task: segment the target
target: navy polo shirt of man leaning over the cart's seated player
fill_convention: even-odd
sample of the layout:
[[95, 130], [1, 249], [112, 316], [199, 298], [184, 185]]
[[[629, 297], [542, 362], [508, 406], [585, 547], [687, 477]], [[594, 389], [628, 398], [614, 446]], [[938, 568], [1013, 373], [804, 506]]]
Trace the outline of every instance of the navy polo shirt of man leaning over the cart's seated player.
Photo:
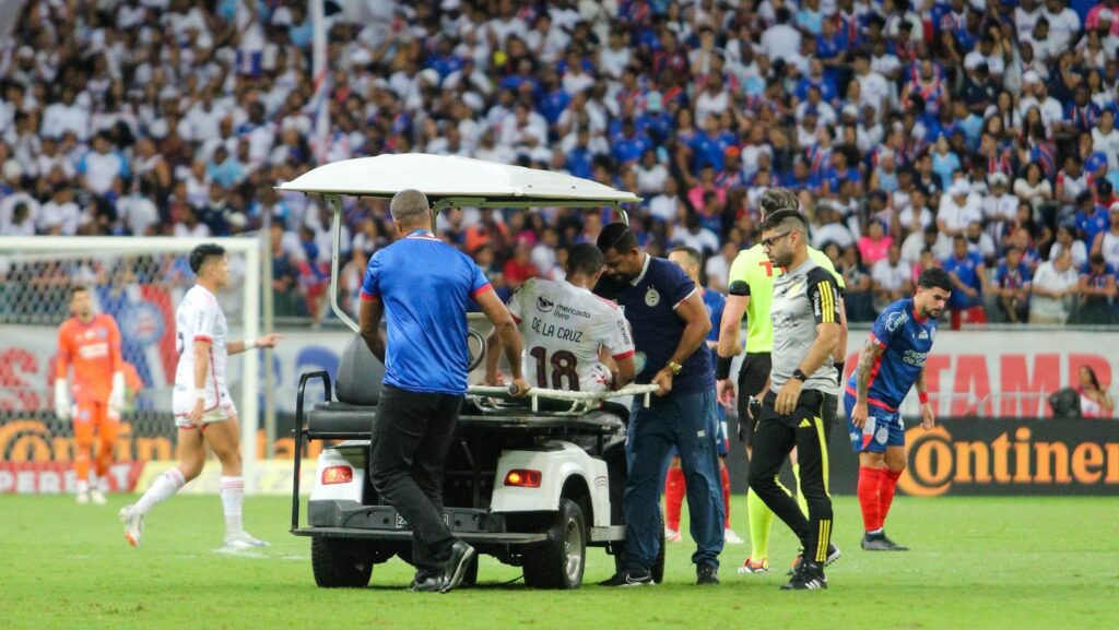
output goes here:
[[[646, 357], [637, 383], [648, 384], [668, 365], [687, 327], [676, 307], [696, 291], [696, 284], [679, 266], [646, 255], [641, 274], [632, 282], [617, 282], [605, 276], [594, 292], [618, 302], [633, 327], [633, 346]], [[694, 394], [715, 386], [711, 352], [698, 348], [684, 361], [684, 369], [673, 378], [674, 394]]]

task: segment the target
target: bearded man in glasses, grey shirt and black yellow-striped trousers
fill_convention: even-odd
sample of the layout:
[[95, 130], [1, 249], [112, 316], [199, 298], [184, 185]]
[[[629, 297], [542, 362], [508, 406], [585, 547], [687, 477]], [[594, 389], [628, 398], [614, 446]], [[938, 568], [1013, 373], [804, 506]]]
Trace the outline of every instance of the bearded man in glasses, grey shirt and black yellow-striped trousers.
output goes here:
[[[762, 224], [762, 247], [784, 269], [773, 283], [773, 367], [762, 399], [750, 462], [750, 488], [800, 538], [803, 562], [784, 590], [826, 589], [824, 565], [831, 547], [831, 497], [825, 434], [826, 395], [838, 395], [831, 352], [839, 341], [839, 290], [835, 278], [808, 257], [808, 224], [797, 210], [779, 210]], [[800, 489], [808, 518], [777, 480], [797, 448]]]

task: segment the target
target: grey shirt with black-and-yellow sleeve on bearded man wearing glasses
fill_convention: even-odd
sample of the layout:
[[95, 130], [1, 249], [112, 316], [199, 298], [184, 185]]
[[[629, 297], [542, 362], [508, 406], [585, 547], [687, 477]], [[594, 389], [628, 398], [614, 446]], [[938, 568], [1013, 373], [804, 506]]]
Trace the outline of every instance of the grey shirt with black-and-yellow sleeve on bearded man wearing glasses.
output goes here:
[[[816, 326], [839, 323], [839, 288], [835, 276], [811, 260], [781, 274], [773, 282], [770, 317], [773, 320], [770, 389], [778, 392], [792, 378], [792, 373], [805, 360], [808, 349], [816, 341]], [[836, 368], [830, 356], [819, 369], [808, 375], [803, 388], [839, 395]]]

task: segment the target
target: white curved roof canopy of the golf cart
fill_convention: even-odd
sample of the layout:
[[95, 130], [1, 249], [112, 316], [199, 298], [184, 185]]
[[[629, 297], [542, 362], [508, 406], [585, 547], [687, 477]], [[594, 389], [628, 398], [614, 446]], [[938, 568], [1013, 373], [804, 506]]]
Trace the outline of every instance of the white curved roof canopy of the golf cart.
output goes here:
[[318, 167], [278, 188], [380, 198], [414, 188], [432, 204], [445, 198], [478, 198], [489, 205], [509, 201], [515, 206], [561, 205], [555, 201], [614, 205], [641, 200], [632, 192], [571, 175], [429, 153], [341, 160]]

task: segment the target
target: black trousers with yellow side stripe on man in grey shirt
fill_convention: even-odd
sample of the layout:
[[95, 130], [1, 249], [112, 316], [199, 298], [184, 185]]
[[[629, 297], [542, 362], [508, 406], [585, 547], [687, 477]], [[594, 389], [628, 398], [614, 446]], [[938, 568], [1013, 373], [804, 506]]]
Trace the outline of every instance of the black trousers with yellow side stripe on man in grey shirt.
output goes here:
[[[750, 488], [800, 538], [805, 558], [820, 564], [828, 556], [831, 540], [825, 421], [828, 417], [825, 407], [831, 404], [828, 398], [815, 389], [805, 389], [792, 413], [781, 415], [773, 408], [777, 394], [768, 392], [754, 433], [754, 457], [750, 460]], [[793, 446], [800, 464], [800, 490], [808, 500], [808, 518], [777, 478]]]

